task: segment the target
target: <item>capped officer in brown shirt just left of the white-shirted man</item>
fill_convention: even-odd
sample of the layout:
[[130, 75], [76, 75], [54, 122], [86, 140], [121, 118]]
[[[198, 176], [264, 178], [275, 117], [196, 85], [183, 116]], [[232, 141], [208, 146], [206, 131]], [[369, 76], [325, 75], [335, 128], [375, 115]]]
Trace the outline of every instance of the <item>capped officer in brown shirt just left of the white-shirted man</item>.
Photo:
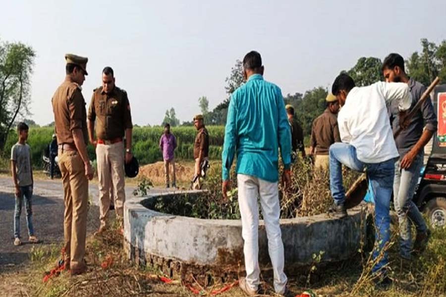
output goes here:
[[313, 121], [311, 127], [310, 154], [315, 155], [315, 167], [329, 169], [329, 148], [335, 142], [341, 142], [337, 127], [339, 102], [329, 93], [326, 98], [327, 108]]

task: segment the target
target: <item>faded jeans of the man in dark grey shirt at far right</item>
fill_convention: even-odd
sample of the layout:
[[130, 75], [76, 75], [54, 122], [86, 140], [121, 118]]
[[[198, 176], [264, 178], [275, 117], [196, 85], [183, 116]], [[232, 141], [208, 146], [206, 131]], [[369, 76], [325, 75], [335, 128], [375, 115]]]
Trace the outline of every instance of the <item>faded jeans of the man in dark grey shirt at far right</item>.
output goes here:
[[[400, 253], [405, 258], [410, 258], [412, 248], [412, 235], [410, 223], [417, 228], [417, 232], [427, 231], [426, 223], [418, 207], [412, 198], [420, 177], [420, 170], [423, 167], [424, 152], [419, 153], [412, 165], [407, 169], [399, 167], [399, 160], [395, 162], [395, 180], [393, 182], [393, 203], [398, 215]], [[409, 220], [410, 219], [410, 220]]]

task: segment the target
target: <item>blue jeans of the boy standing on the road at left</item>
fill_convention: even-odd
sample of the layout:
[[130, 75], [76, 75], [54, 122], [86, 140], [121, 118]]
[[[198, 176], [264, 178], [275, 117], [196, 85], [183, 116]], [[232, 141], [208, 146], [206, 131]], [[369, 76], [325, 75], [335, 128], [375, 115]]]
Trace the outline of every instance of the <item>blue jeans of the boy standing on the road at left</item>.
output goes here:
[[33, 186], [20, 187], [20, 196], [15, 197], [14, 209], [14, 238], [20, 238], [20, 214], [22, 213], [23, 200], [25, 200], [26, 225], [28, 226], [28, 235], [34, 235], [33, 228], [33, 210], [32, 210]]

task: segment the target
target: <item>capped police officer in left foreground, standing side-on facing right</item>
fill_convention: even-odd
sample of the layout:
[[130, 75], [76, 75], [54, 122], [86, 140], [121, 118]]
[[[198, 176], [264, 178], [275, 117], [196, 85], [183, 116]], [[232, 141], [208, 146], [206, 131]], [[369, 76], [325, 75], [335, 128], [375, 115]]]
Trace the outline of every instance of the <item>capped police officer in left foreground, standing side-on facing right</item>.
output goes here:
[[87, 154], [87, 112], [81, 85], [88, 58], [66, 54], [65, 81], [52, 103], [64, 191], [64, 263], [71, 275], [87, 270], [84, 261], [87, 233], [88, 180], [93, 169]]

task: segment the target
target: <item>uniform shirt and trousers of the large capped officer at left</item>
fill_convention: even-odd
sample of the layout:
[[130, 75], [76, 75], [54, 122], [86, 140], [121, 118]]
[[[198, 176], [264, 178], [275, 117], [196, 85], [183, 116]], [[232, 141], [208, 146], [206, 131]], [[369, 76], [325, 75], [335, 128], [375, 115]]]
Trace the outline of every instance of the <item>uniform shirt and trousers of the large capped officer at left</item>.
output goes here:
[[65, 265], [76, 270], [85, 267], [88, 179], [80, 154], [77, 150], [63, 150], [63, 144], [75, 148], [73, 129], [81, 129], [87, 143], [87, 112], [81, 88], [74, 82], [64, 81], [57, 88], [52, 103], [65, 203], [64, 260]]

